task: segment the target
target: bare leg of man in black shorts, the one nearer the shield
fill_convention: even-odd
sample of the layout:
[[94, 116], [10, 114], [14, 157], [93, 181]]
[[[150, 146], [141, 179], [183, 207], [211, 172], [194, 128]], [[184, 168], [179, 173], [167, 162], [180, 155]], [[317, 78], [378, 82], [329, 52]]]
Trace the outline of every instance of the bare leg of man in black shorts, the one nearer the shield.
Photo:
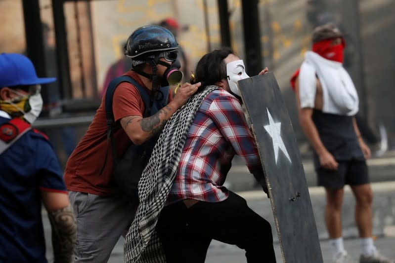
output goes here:
[[325, 224], [329, 238], [339, 238], [342, 236], [342, 204], [344, 189], [325, 189]]

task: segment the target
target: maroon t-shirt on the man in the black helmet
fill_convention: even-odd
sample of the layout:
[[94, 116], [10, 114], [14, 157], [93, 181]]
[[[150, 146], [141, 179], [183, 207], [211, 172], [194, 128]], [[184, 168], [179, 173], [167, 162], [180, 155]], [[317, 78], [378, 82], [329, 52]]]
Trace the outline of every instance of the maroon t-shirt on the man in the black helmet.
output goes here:
[[[124, 75], [132, 77], [148, 92], [139, 76], [129, 71]], [[172, 94], [169, 92], [169, 101]], [[76, 149], [71, 154], [66, 164], [64, 182], [71, 191], [86, 192], [97, 195], [107, 195], [114, 191], [115, 184], [112, 177], [113, 159], [111, 145], [107, 146], [107, 125], [104, 106], [105, 96], [101, 105], [96, 111], [87, 133], [81, 139]], [[113, 97], [114, 119], [119, 124], [119, 120], [126, 116], [142, 116], [145, 107], [138, 89], [129, 82], [122, 82], [115, 89]], [[115, 149], [117, 156], [122, 156], [132, 141], [125, 133], [124, 129], [119, 128], [114, 132]], [[100, 174], [107, 152], [107, 163]]]

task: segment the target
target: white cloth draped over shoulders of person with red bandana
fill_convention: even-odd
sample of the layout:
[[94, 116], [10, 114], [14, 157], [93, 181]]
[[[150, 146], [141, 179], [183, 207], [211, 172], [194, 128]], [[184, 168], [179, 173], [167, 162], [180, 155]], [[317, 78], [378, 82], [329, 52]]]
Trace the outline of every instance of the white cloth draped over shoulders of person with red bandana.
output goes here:
[[358, 112], [358, 94], [342, 63], [307, 51], [299, 73], [301, 108], [314, 108], [316, 75], [322, 86], [322, 112], [352, 116]]

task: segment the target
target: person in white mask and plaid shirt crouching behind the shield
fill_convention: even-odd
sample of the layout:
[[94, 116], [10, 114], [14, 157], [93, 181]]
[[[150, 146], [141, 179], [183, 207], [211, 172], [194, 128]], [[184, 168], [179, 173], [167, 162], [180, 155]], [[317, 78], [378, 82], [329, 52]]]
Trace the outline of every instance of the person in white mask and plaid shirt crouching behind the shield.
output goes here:
[[[267, 71], [266, 68], [260, 74]], [[155, 229], [166, 261], [203, 263], [210, 242], [215, 239], [245, 250], [249, 263], [263, 259], [275, 263], [270, 224], [251, 210], [245, 199], [223, 185], [232, 158], [238, 154], [267, 192], [259, 153], [237, 88], [238, 80], [249, 77], [244, 63], [231, 49], [223, 48], [204, 55], [195, 75], [191, 83], [202, 85], [194, 97], [207, 94], [195, 106], [192, 99], [175, 115], [181, 120], [191, 114], [194, 117], [182, 132], [186, 137], [183, 148], [174, 152], [173, 156], [180, 156], [176, 169], [166, 175], [166, 180], [173, 179], [173, 185], [160, 193], [168, 194], [168, 198]], [[183, 112], [192, 107], [196, 107], [196, 112], [183, 117]], [[171, 126], [172, 122], [162, 136], [179, 134], [179, 130], [172, 132]], [[151, 248], [145, 249], [152, 252]]]

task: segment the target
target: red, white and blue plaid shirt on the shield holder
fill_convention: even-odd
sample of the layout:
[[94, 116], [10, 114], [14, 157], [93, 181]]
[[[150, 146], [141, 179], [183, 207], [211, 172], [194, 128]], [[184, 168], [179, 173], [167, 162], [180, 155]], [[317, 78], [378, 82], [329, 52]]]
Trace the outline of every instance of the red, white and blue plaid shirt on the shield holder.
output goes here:
[[184, 199], [219, 202], [228, 197], [223, 187], [235, 154], [244, 158], [258, 180], [263, 169], [240, 102], [225, 90], [211, 92], [189, 128], [168, 204]]

